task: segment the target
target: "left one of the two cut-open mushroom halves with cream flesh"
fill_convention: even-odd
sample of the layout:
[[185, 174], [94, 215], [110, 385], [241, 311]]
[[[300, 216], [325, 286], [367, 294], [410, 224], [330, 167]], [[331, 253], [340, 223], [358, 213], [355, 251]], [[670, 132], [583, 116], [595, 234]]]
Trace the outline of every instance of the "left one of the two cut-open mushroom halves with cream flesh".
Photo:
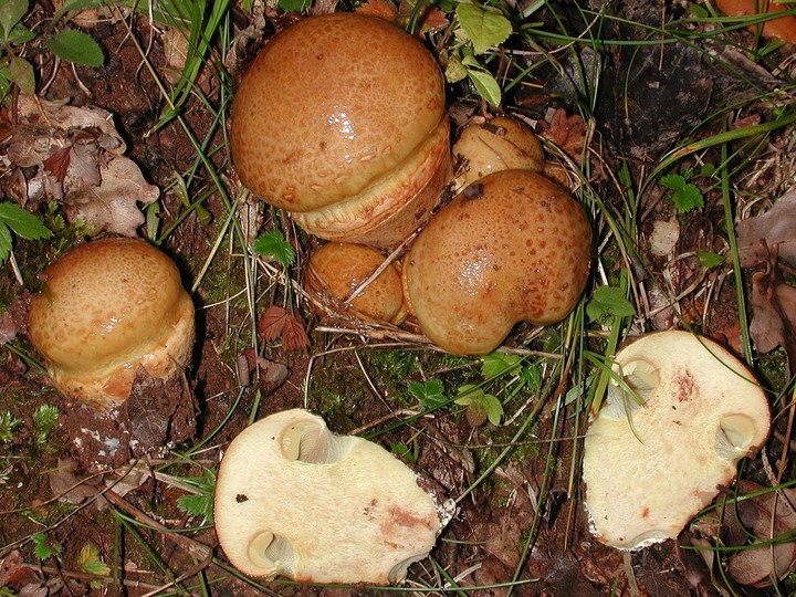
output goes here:
[[261, 419], [230, 443], [214, 507], [235, 568], [300, 583], [401, 582], [444, 516], [400, 460], [302, 409]]

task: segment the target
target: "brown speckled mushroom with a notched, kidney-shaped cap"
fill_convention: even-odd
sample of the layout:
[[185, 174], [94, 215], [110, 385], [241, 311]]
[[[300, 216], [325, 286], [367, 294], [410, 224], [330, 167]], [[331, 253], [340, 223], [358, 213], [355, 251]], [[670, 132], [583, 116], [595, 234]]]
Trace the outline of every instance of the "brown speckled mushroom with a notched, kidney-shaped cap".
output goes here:
[[586, 284], [591, 229], [580, 205], [531, 170], [480, 179], [437, 213], [404, 259], [422, 333], [457, 354], [496, 348], [520, 321], [564, 318]]

